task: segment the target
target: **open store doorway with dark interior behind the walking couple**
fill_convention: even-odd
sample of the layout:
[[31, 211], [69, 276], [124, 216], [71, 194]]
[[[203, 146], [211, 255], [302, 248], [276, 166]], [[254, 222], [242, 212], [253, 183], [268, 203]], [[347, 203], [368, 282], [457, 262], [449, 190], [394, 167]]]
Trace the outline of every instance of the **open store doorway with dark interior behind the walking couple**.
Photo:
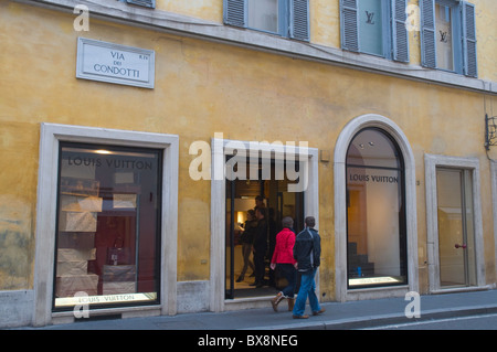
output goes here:
[[[273, 256], [276, 234], [282, 230], [283, 217], [292, 216], [295, 233], [303, 230], [304, 192], [288, 192], [288, 184], [294, 181], [289, 181], [286, 175], [278, 177], [283, 180], [276, 180], [276, 162], [272, 160], [268, 180], [263, 180], [261, 166], [258, 166], [258, 178], [255, 180], [248, 178], [248, 171], [246, 180], [226, 180], [225, 298], [269, 296], [285, 286], [278, 273], [269, 269], [269, 260]], [[297, 182], [298, 179], [295, 183]], [[267, 225], [263, 239], [266, 244], [263, 247], [263, 263], [254, 258], [253, 250], [254, 237], [261, 236], [264, 228], [262, 220], [254, 217], [257, 213], [264, 214]], [[261, 246], [261, 241], [257, 243], [256, 246]], [[258, 268], [262, 270], [256, 269], [257, 260]], [[257, 274], [262, 276], [258, 282], [256, 282], [260, 277]]]

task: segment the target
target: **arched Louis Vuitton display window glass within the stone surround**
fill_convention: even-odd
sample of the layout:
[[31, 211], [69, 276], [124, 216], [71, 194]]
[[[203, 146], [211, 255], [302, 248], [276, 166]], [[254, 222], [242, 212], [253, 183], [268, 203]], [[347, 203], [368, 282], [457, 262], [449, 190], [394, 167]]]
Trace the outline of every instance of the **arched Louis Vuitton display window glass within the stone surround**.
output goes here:
[[350, 142], [347, 178], [347, 287], [408, 284], [404, 161], [382, 129]]

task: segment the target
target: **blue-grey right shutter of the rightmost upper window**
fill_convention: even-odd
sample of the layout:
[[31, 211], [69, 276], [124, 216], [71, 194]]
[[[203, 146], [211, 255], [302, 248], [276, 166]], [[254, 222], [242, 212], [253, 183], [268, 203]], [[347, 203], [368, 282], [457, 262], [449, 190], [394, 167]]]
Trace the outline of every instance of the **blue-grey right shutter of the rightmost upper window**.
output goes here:
[[464, 74], [477, 77], [475, 6], [468, 2], [463, 2], [463, 57]]

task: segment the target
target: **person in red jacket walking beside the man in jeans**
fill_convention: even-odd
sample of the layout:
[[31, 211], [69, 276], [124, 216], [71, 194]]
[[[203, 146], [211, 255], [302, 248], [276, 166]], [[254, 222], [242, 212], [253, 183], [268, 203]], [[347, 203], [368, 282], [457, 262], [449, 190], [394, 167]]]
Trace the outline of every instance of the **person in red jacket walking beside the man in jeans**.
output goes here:
[[276, 235], [276, 246], [274, 248], [273, 258], [271, 259], [271, 268], [277, 269], [287, 280], [288, 285], [279, 291], [275, 298], [271, 300], [274, 311], [278, 311], [277, 307], [283, 299], [288, 300], [288, 310], [294, 309], [294, 287], [297, 278], [297, 270], [294, 258], [295, 233], [292, 231], [294, 221], [290, 216], [282, 220], [283, 230]]

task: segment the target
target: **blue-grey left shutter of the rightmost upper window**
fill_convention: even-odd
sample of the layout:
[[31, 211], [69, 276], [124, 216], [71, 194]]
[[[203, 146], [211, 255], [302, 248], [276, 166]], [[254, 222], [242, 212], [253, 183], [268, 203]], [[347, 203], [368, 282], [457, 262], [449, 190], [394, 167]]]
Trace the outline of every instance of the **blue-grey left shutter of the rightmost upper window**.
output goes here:
[[421, 65], [436, 67], [435, 1], [420, 0], [421, 9]]

